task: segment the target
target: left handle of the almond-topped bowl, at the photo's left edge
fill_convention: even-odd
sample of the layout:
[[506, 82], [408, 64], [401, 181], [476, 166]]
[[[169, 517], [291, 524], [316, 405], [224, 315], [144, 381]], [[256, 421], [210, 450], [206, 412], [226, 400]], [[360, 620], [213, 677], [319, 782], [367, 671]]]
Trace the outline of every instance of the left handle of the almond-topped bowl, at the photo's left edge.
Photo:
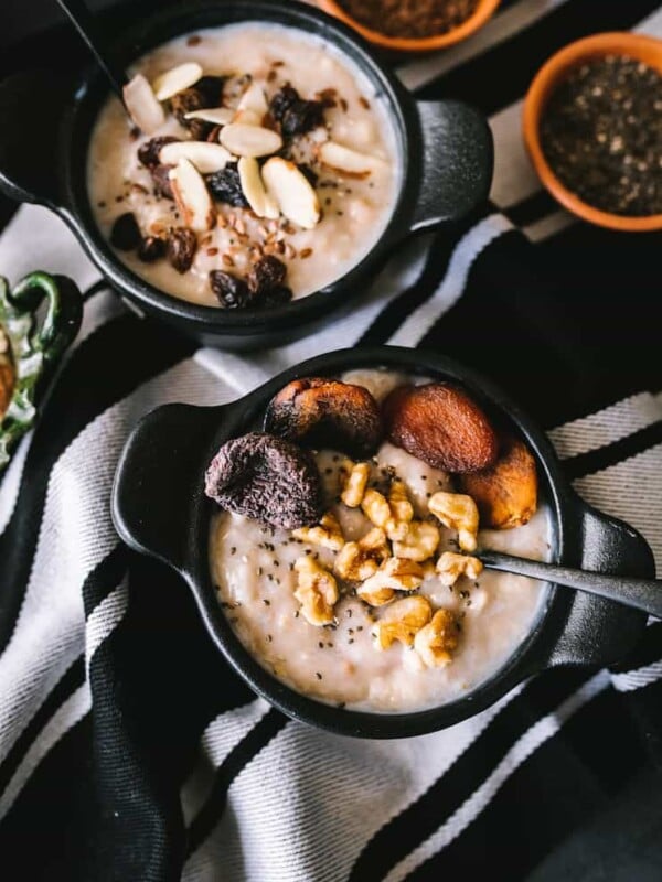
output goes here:
[[52, 71], [22, 71], [0, 83], [0, 190], [60, 207], [58, 161], [68, 85]]

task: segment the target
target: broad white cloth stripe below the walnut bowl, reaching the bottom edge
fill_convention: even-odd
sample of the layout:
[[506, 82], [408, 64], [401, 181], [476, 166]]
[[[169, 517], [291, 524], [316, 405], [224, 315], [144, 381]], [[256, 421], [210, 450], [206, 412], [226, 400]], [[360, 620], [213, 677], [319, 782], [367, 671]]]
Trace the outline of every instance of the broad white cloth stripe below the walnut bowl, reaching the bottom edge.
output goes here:
[[[184, 882], [216, 882], [220, 865], [224, 882], [346, 879], [367, 840], [418, 799], [522, 689], [459, 725], [402, 741], [288, 724], [233, 782], [227, 810], [192, 856]], [[287, 795], [284, 781], [296, 783]], [[259, 849], [246, 848], [256, 841]]]

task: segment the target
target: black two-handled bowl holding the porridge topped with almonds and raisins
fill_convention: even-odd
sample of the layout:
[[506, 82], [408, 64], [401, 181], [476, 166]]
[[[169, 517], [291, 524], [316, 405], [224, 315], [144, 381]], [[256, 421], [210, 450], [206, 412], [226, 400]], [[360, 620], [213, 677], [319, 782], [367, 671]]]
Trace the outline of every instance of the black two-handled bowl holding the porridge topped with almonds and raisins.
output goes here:
[[237, 21], [285, 24], [323, 37], [354, 60], [389, 109], [402, 185], [387, 228], [345, 276], [288, 305], [257, 312], [188, 303], [131, 272], [102, 236], [87, 195], [87, 148], [108, 97], [96, 68], [73, 84], [38, 71], [0, 85], [0, 118], [11, 121], [0, 132], [0, 189], [63, 217], [105, 278], [140, 313], [164, 319], [204, 344], [246, 349], [311, 333], [331, 311], [351, 305], [408, 234], [468, 215], [488, 195], [493, 155], [489, 127], [477, 110], [457, 101], [416, 103], [353, 31], [302, 3], [188, 0], [139, 22], [114, 52], [126, 67], [174, 36]]

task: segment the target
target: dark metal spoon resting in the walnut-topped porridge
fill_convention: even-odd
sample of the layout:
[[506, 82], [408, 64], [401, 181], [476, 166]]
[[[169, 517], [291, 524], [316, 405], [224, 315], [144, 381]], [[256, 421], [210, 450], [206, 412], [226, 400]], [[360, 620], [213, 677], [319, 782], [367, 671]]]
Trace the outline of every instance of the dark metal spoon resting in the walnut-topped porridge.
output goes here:
[[491, 570], [528, 576], [532, 579], [587, 591], [589, 594], [599, 594], [601, 598], [615, 600], [662, 619], [662, 579], [633, 579], [628, 576], [574, 570], [569, 567], [515, 558], [496, 551], [481, 551], [479, 557]]

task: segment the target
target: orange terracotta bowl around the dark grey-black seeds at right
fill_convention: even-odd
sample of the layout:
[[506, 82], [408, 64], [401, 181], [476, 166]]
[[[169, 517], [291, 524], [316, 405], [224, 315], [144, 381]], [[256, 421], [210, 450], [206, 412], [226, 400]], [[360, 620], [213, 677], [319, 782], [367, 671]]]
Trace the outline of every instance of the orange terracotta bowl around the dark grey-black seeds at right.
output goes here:
[[645, 217], [626, 217], [595, 208], [580, 200], [563, 184], [552, 171], [543, 153], [540, 140], [540, 123], [549, 97], [568, 73], [594, 58], [605, 55], [629, 55], [638, 58], [662, 74], [662, 41], [652, 36], [632, 33], [605, 33], [587, 36], [570, 43], [553, 55], [538, 71], [524, 101], [524, 141], [533, 165], [549, 193], [577, 217], [609, 229], [628, 233], [644, 233], [662, 229], [662, 214]]

